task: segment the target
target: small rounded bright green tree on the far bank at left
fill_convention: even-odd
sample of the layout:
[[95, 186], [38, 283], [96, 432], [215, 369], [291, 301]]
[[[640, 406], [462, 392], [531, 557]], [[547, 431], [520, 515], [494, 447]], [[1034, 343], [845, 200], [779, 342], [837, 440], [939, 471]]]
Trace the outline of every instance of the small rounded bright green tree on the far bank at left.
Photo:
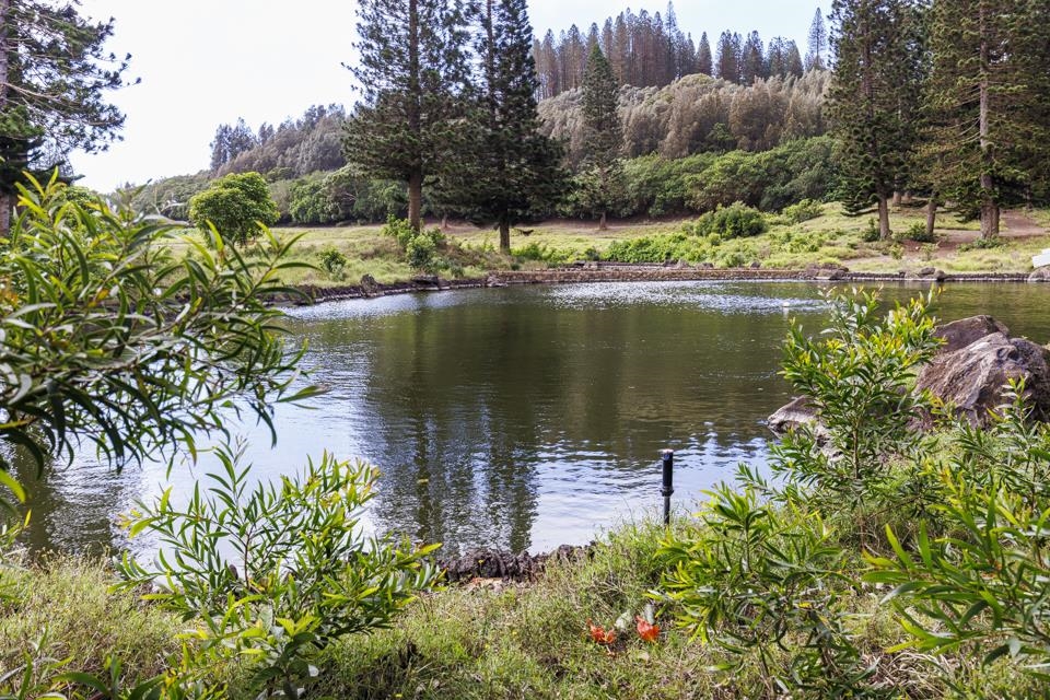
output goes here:
[[201, 230], [210, 222], [226, 243], [245, 245], [259, 234], [259, 225], [280, 219], [266, 180], [258, 173], [232, 173], [220, 177], [189, 200], [189, 220]]

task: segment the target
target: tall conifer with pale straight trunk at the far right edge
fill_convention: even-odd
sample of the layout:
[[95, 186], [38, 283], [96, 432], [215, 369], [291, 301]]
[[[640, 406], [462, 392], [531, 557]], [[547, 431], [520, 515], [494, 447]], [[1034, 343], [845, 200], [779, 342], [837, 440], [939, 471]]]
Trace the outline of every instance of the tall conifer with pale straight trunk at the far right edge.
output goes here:
[[1050, 160], [1050, 9], [1037, 0], [936, 2], [928, 162], [935, 189], [999, 234]]

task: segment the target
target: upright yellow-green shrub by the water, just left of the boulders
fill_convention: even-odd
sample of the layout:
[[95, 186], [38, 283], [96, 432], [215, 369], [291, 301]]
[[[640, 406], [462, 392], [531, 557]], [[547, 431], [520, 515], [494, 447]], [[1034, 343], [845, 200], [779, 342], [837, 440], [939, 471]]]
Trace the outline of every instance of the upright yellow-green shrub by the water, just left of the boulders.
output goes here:
[[[910, 424], [929, 404], [911, 387], [937, 347], [933, 322], [918, 300], [885, 316], [874, 293], [829, 301], [831, 326], [819, 339], [792, 328], [782, 372], [820, 424], [789, 433], [774, 448], [773, 471], [825, 514], [899, 512], [907, 500], [891, 478], [892, 458], [907, 455], [915, 468], [922, 462], [923, 442]], [[919, 499], [908, 505], [923, 508]]]

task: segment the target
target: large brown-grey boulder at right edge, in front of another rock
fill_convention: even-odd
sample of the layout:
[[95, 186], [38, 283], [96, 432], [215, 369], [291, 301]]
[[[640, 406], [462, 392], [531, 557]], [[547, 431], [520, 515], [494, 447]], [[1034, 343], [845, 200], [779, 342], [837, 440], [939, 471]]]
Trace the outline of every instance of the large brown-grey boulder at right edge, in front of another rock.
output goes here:
[[915, 389], [929, 389], [957, 415], [984, 425], [1004, 402], [1003, 389], [1012, 380], [1024, 380], [1025, 395], [1038, 418], [1050, 417], [1050, 352], [1005, 332], [942, 351], [919, 373]]

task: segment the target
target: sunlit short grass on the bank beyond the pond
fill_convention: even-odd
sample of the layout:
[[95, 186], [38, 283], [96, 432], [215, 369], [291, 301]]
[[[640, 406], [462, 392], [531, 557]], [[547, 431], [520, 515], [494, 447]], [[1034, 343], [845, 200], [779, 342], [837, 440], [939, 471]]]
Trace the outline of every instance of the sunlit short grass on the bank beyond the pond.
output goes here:
[[[890, 213], [895, 240], [865, 242], [874, 214], [848, 215], [838, 203], [827, 203], [822, 214], [802, 223], [790, 223], [782, 217], [769, 215], [767, 233], [750, 238], [723, 241], [711, 249], [711, 260], [723, 265], [750, 265], [757, 261], [763, 268], [803, 269], [810, 265], [844, 265], [854, 271], [897, 272], [918, 271], [935, 267], [946, 272], [1026, 272], [1031, 269], [1031, 257], [1050, 247], [1050, 209], [1025, 212], [1026, 231], [1017, 235], [1004, 223], [1002, 245], [985, 249], [960, 249], [979, 237], [979, 224], [960, 222], [950, 212], [938, 212], [936, 243], [919, 243], [907, 237], [915, 225], [925, 224], [921, 207], [901, 207]], [[465, 222], [450, 222], [444, 231], [450, 242], [440, 254], [450, 266], [439, 270], [446, 278], [481, 278], [492, 270], [545, 268], [581, 259], [604, 257], [615, 242], [643, 236], [675, 234], [692, 221], [691, 218], [672, 220], [610, 221], [605, 231], [596, 222], [553, 220], [523, 224], [512, 230], [510, 256], [499, 253], [499, 234], [492, 229]], [[439, 222], [428, 222], [436, 226]], [[1042, 233], [1039, 234], [1041, 226]], [[1032, 234], [1032, 231], [1036, 234]], [[280, 236], [301, 236], [294, 248], [295, 259], [313, 268], [298, 269], [287, 275], [291, 284], [319, 287], [358, 284], [365, 275], [381, 283], [410, 280], [421, 270], [413, 269], [396, 242], [383, 234], [383, 226], [324, 226], [278, 228]], [[346, 256], [342, 269], [320, 268], [322, 252], [334, 248]], [[739, 255], [726, 255], [738, 252]]]

